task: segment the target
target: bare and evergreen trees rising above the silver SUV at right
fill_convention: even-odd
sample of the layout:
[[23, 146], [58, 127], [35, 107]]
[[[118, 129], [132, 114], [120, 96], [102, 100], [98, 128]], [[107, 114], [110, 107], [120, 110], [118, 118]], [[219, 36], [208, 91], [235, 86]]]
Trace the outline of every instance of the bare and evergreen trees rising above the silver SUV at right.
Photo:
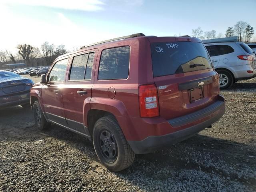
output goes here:
[[[233, 27], [228, 27], [226, 30], [226, 37], [238, 36], [238, 41], [249, 43], [252, 35], [254, 34], [254, 28], [250, 26], [245, 21], [238, 21]], [[216, 34], [216, 30], [211, 31], [203, 31], [201, 27], [196, 29], [192, 29], [192, 36], [196, 38], [200, 38], [202, 40], [205, 39], [215, 39], [215, 38], [223, 38], [222, 33]]]

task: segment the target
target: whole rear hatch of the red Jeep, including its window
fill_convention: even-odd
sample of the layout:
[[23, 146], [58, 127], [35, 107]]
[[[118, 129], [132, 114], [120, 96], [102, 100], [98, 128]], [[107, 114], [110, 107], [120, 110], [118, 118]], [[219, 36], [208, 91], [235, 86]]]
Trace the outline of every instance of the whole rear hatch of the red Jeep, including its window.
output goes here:
[[210, 105], [219, 94], [218, 75], [207, 50], [196, 38], [151, 41], [154, 83], [160, 116], [166, 120]]

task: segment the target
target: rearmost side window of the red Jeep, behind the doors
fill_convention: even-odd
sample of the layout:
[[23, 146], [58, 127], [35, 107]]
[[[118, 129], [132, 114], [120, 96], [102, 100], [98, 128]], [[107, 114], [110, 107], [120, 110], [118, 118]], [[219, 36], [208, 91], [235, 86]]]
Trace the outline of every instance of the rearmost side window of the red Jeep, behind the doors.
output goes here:
[[116, 47], [102, 51], [99, 80], [127, 79], [129, 74], [130, 47]]

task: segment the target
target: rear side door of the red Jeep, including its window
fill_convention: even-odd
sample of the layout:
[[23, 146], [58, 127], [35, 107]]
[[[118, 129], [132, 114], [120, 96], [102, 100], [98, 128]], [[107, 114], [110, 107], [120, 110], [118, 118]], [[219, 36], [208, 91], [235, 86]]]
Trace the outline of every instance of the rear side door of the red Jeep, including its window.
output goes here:
[[89, 135], [84, 126], [84, 108], [90, 105], [92, 86], [94, 83], [94, 68], [98, 50], [80, 52], [72, 56], [68, 78], [62, 97], [64, 114], [69, 128], [75, 132]]

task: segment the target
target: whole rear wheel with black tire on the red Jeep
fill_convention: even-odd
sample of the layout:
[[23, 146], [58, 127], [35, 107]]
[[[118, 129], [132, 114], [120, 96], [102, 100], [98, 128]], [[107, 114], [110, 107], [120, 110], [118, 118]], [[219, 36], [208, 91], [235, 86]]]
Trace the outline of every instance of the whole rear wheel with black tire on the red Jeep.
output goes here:
[[124, 170], [134, 161], [135, 153], [113, 116], [102, 117], [95, 123], [92, 138], [100, 162], [109, 170]]

